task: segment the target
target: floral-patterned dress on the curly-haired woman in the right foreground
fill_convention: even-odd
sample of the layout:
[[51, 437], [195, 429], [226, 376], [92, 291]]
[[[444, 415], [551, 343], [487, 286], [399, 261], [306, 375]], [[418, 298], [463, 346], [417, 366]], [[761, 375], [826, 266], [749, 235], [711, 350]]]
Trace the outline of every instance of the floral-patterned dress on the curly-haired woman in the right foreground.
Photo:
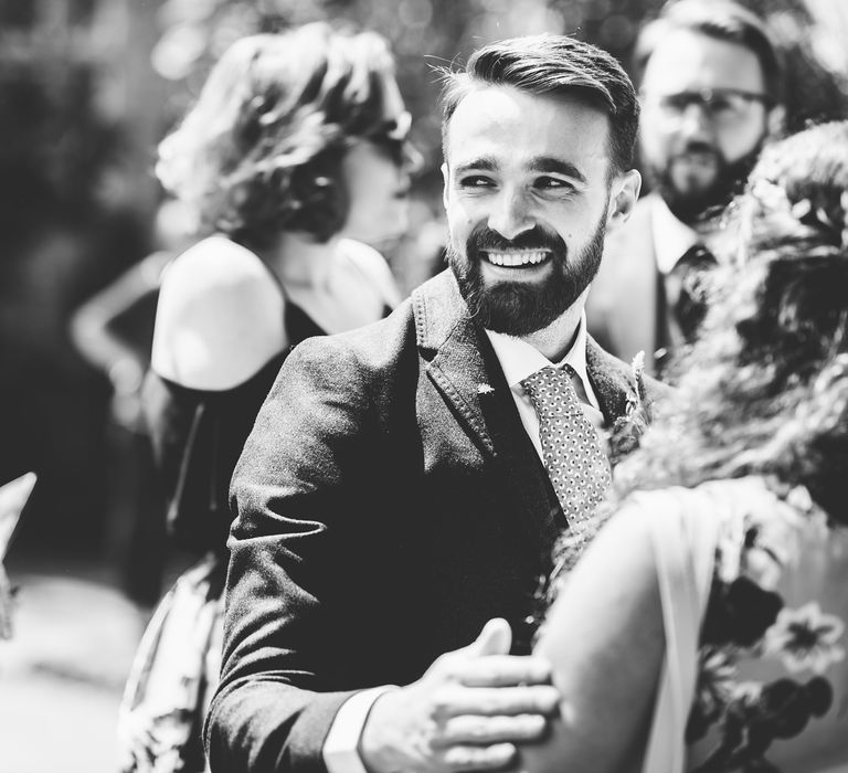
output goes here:
[[848, 771], [845, 522], [759, 476], [632, 499], [667, 640], [643, 772]]

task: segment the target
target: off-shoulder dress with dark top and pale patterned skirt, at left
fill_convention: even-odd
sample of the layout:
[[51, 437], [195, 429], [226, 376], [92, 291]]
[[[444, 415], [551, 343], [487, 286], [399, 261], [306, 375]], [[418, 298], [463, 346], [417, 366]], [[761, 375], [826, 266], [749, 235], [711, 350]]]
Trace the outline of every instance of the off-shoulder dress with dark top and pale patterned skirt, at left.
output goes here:
[[[391, 309], [386, 306], [383, 316]], [[201, 773], [203, 719], [221, 666], [230, 478], [286, 354], [326, 335], [286, 301], [289, 348], [246, 382], [211, 392], [150, 372], [145, 405], [174, 542], [203, 558], [159, 603], [136, 653], [118, 717], [124, 773]]]

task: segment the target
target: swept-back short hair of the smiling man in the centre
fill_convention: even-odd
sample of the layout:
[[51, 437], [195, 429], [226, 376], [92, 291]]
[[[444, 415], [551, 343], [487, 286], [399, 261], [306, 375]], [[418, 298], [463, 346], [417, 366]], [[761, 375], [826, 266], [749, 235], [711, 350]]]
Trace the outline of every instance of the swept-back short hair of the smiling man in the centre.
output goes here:
[[[481, 85], [513, 86], [536, 95], [568, 95], [607, 115], [612, 171], [633, 165], [639, 105], [617, 60], [565, 35], [532, 35], [490, 43], [471, 54], [462, 72], [443, 71], [442, 141], [457, 105]], [[445, 147], [446, 150], [446, 147]]]

